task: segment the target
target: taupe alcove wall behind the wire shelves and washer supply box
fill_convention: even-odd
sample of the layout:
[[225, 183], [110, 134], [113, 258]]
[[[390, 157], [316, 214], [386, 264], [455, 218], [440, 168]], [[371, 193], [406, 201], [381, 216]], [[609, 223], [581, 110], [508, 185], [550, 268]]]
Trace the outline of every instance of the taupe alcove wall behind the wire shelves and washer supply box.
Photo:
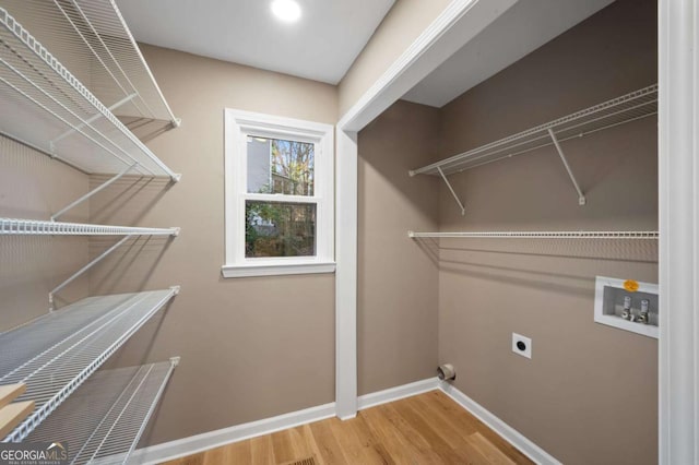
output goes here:
[[[656, 82], [655, 2], [620, 0], [443, 108], [451, 155]], [[656, 229], [656, 121], [451, 178], [441, 230]], [[653, 464], [656, 339], [593, 322], [596, 275], [657, 282], [649, 242], [441, 242], [439, 358], [457, 388], [566, 464]], [[511, 334], [533, 358], [511, 353]]]

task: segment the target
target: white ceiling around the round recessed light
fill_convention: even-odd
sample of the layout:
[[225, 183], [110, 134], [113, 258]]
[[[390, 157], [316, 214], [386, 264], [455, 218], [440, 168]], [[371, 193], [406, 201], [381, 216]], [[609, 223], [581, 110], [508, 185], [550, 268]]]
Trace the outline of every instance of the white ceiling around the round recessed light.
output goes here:
[[337, 84], [395, 0], [297, 0], [275, 20], [271, 0], [116, 0], [135, 39]]

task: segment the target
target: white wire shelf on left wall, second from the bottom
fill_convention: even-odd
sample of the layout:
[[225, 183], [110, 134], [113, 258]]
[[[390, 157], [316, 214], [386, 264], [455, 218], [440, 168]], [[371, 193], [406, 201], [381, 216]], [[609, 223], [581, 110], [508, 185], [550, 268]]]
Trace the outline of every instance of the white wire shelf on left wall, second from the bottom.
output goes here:
[[24, 382], [34, 412], [3, 442], [24, 440], [179, 291], [88, 297], [0, 334], [0, 384]]

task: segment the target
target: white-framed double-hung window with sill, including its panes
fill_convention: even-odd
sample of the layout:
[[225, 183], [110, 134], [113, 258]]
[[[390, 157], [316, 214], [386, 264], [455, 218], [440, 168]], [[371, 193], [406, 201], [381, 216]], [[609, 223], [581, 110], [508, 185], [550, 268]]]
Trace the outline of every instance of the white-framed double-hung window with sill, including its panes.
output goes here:
[[224, 277], [330, 273], [333, 127], [225, 110]]

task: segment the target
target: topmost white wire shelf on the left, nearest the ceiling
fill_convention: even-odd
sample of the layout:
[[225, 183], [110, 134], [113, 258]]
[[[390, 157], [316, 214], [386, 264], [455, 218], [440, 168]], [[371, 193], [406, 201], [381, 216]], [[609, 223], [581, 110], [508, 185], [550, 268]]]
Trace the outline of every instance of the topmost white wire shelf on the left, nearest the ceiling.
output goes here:
[[107, 107], [119, 116], [178, 126], [116, 2], [112, 0], [3, 0]]

